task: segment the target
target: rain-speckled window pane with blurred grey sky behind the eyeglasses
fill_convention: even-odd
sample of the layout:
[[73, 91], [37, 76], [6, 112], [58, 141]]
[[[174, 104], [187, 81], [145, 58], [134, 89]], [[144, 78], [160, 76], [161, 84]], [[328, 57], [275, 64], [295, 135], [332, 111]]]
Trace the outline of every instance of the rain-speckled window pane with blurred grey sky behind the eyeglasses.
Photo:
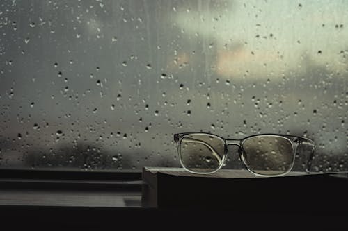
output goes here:
[[0, 168], [179, 166], [173, 134], [203, 131], [310, 137], [347, 170], [347, 8], [3, 0]]

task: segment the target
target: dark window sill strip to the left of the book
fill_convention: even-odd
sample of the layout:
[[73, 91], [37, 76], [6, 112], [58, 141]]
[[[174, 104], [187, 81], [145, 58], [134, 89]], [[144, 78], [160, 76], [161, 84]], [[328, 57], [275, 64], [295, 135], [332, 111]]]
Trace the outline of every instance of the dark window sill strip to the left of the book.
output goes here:
[[135, 172], [0, 170], [0, 206], [141, 207]]

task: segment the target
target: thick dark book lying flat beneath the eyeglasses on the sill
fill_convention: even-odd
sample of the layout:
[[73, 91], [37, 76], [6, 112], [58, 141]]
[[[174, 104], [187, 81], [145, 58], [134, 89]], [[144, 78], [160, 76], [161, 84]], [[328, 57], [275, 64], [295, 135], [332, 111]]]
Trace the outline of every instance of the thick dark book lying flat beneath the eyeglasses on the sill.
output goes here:
[[221, 169], [194, 174], [180, 168], [143, 168], [142, 204], [160, 209], [235, 212], [348, 212], [347, 173], [290, 172], [254, 176]]

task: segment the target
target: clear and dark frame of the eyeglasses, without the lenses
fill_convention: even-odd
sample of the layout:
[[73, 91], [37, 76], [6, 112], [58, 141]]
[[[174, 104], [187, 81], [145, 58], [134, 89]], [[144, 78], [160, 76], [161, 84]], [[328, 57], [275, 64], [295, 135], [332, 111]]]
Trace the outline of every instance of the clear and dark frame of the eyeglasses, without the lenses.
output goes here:
[[[209, 172], [196, 172], [196, 171], [191, 171], [190, 169], [187, 169], [187, 167], [184, 165], [184, 162], [182, 161], [182, 154], [181, 154], [181, 142], [182, 142], [182, 139], [186, 137], [187, 135], [209, 135], [209, 136], [217, 137], [223, 141], [223, 146], [224, 146], [223, 158], [221, 160], [221, 164], [219, 165], [217, 169], [215, 169], [214, 171], [209, 171]], [[243, 155], [243, 152], [244, 152], [244, 149], [242, 148], [243, 144], [248, 139], [251, 139], [253, 137], [262, 137], [262, 136], [273, 136], [273, 137], [285, 138], [292, 144], [292, 163], [290, 165], [290, 168], [287, 169], [287, 171], [285, 171], [284, 173], [275, 174], [275, 175], [264, 175], [260, 173], [255, 173], [255, 171], [253, 171], [252, 169], [248, 167], [248, 164], [246, 163], [246, 160]], [[287, 173], [289, 173], [294, 167], [294, 162], [296, 159], [296, 149], [300, 144], [309, 144], [310, 146], [312, 146], [312, 150], [310, 151], [310, 156], [308, 157], [307, 166], [306, 166], [306, 173], [310, 173], [310, 166], [312, 165], [313, 155], [315, 151], [315, 143], [313, 142], [312, 139], [308, 139], [307, 137], [299, 137], [295, 135], [283, 135], [283, 134], [274, 134], [274, 133], [249, 135], [247, 137], [244, 137], [243, 139], [225, 139], [223, 137], [220, 137], [219, 135], [215, 135], [215, 134], [207, 133], [207, 132], [182, 132], [182, 133], [174, 134], [174, 141], [177, 144], [177, 153], [179, 154], [179, 160], [180, 160], [181, 166], [186, 171], [189, 171], [190, 173], [196, 173], [196, 174], [212, 174], [212, 173], [216, 173], [216, 171], [219, 171], [226, 162], [226, 158], [228, 156], [228, 146], [230, 145], [238, 146], [239, 158], [244, 168], [246, 168], [246, 170], [248, 170], [249, 172], [253, 173], [255, 176], [261, 176], [261, 177], [278, 177], [278, 176], [284, 176]], [[205, 144], [205, 145], [210, 146], [209, 144]], [[210, 148], [213, 148], [213, 147], [210, 146]]]

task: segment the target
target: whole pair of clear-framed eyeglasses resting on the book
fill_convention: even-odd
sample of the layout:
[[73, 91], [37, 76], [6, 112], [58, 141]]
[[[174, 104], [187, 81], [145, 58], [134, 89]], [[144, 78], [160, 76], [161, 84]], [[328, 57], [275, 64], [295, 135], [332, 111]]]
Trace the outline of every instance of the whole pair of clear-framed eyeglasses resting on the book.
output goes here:
[[306, 172], [309, 173], [315, 144], [306, 137], [262, 134], [244, 139], [223, 139], [204, 132], [174, 135], [182, 167], [191, 173], [209, 174], [221, 169], [226, 161], [228, 146], [238, 146], [242, 163], [256, 176], [283, 176], [294, 166], [296, 148], [308, 146], [310, 155]]

